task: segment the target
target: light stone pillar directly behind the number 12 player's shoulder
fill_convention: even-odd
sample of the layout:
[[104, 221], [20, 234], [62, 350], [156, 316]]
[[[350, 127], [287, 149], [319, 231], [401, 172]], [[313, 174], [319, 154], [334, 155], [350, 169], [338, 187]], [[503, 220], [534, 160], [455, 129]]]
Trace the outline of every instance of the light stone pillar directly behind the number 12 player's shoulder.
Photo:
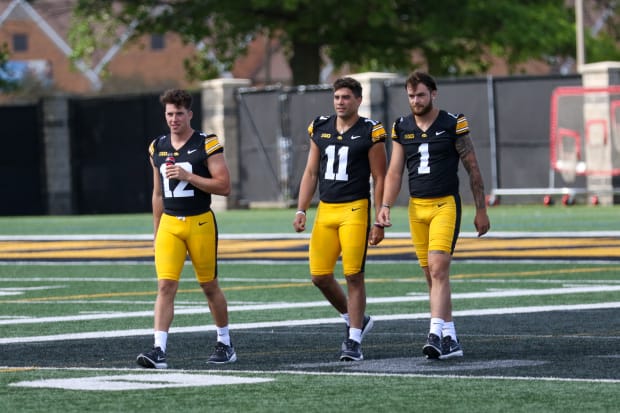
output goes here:
[[248, 79], [213, 79], [202, 83], [202, 130], [205, 133], [215, 133], [224, 145], [232, 186], [228, 197], [213, 195], [214, 211], [235, 208], [239, 204], [241, 168], [235, 92], [241, 87], [250, 86], [250, 83]]

